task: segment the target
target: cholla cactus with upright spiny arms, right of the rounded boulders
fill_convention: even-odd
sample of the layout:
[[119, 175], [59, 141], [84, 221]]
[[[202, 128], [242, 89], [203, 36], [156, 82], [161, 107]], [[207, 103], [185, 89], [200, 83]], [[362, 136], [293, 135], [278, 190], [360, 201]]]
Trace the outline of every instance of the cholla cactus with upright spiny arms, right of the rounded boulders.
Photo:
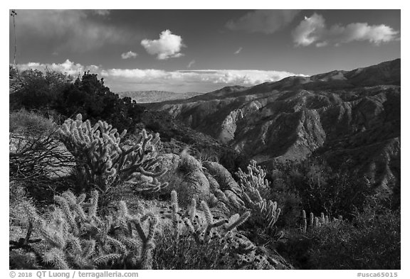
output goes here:
[[260, 191], [269, 190], [269, 182], [265, 179], [266, 172], [261, 166], [252, 160], [248, 165], [248, 172], [243, 173], [241, 169], [236, 173], [239, 177], [239, 185], [242, 188], [241, 199], [246, 209], [251, 209], [251, 221], [266, 229], [273, 229], [280, 215], [280, 208], [276, 202], [264, 199]]

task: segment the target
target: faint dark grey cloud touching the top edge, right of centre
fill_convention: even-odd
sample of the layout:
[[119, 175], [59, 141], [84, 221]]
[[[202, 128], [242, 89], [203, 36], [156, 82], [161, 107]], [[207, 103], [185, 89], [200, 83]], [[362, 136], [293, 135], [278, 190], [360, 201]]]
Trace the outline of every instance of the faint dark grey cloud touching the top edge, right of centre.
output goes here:
[[236, 21], [228, 21], [226, 28], [235, 31], [272, 34], [293, 21], [300, 10], [257, 10], [246, 13]]

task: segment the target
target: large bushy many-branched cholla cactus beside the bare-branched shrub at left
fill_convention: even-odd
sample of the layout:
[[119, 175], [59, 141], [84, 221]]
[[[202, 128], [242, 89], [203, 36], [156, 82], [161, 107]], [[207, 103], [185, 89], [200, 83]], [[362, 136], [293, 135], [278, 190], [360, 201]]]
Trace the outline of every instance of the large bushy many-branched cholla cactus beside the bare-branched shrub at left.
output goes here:
[[102, 192], [122, 182], [140, 192], [157, 192], [167, 186], [157, 180], [167, 172], [159, 169], [158, 133], [152, 136], [142, 130], [137, 137], [122, 141], [126, 130], [120, 134], [105, 121], [91, 126], [81, 114], [76, 120], [67, 119], [60, 132], [88, 185]]

